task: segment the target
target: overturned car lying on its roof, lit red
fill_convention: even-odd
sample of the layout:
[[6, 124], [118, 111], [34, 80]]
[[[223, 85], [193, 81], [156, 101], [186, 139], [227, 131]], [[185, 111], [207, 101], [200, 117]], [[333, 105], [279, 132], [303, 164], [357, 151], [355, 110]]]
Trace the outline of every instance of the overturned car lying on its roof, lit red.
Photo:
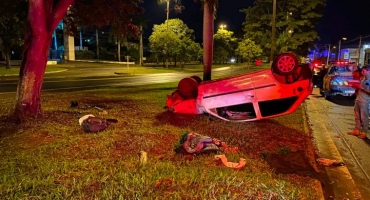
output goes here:
[[271, 69], [201, 81], [182, 79], [168, 95], [175, 113], [209, 113], [226, 121], [255, 121], [294, 112], [313, 89], [310, 64], [299, 65], [293, 53], [278, 55]]

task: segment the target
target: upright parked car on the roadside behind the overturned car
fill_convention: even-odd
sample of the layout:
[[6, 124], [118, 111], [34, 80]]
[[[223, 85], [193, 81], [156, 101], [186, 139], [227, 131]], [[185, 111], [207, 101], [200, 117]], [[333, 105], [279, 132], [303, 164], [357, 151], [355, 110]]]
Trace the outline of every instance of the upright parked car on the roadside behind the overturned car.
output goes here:
[[355, 63], [336, 62], [324, 75], [320, 94], [327, 100], [334, 95], [354, 96], [356, 89], [353, 86], [359, 84], [359, 81], [360, 72]]

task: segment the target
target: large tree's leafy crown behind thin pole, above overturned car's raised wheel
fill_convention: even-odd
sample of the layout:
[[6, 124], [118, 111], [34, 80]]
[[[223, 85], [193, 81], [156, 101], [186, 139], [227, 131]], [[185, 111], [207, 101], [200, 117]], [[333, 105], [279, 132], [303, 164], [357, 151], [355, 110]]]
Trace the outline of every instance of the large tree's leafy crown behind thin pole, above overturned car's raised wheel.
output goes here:
[[[264, 55], [271, 48], [272, 0], [257, 0], [253, 6], [241, 10], [246, 14], [244, 31], [260, 45]], [[315, 25], [322, 17], [325, 0], [279, 0], [276, 4], [275, 55], [294, 51], [306, 55], [313, 41], [320, 39]]]

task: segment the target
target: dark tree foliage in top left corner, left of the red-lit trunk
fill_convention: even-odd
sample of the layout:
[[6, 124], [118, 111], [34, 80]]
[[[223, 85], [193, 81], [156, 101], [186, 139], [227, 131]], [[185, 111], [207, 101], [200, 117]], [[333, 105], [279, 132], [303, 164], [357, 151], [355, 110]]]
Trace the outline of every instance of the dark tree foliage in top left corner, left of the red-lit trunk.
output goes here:
[[0, 51], [11, 68], [11, 51], [20, 49], [27, 19], [27, 3], [22, 0], [2, 0], [0, 6]]

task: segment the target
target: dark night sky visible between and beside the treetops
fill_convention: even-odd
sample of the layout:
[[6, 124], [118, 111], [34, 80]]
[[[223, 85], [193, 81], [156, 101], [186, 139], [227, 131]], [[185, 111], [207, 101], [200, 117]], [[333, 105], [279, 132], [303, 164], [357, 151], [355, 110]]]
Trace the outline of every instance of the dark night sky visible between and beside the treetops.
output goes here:
[[[240, 9], [253, 5], [255, 0], [219, 0], [215, 31], [220, 24], [226, 24], [227, 30], [235, 35], [241, 34], [244, 13]], [[277, 0], [278, 1], [278, 0]], [[321, 38], [318, 43], [337, 43], [340, 38], [352, 40], [361, 36], [370, 35], [370, 7], [368, 0], [327, 0], [327, 6], [316, 30]], [[171, 1], [172, 5], [173, 2]], [[202, 40], [203, 11], [200, 3], [193, 0], [181, 2], [185, 9], [181, 13], [170, 10], [169, 18], [180, 18], [195, 32], [196, 41]], [[144, 35], [149, 37], [153, 24], [161, 24], [166, 20], [166, 4], [159, 5], [156, 0], [145, 0], [142, 6], [146, 9], [145, 15], [150, 18], [149, 26]], [[272, 5], [271, 5], [272, 6]], [[370, 37], [369, 37], [370, 38]]]

